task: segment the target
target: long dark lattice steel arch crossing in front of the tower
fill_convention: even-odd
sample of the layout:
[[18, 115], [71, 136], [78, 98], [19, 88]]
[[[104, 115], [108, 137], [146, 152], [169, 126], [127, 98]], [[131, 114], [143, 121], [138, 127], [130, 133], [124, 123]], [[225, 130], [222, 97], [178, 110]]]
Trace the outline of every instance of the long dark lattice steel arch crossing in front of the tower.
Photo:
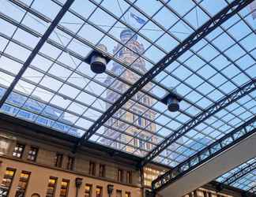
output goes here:
[[139, 80], [132, 87], [130, 87], [117, 101], [107, 109], [107, 111], [101, 115], [101, 117], [90, 127], [88, 132], [85, 132], [81, 139], [79, 139], [73, 149], [75, 152], [77, 147], [85, 143], [104, 123], [111, 118], [115, 112], [119, 110], [129, 99], [131, 99], [138, 91], [141, 90], [146, 84], [148, 84], [155, 76], [171, 65], [177, 58], [189, 50], [192, 46], [198, 43], [210, 32], [213, 32], [220, 24], [223, 24], [226, 20], [234, 16], [241, 9], [248, 6], [253, 0], [235, 0], [230, 3], [227, 7], [222, 9], [213, 18], [203, 24], [197, 31], [193, 32], [183, 43], [176, 46], [174, 50], [171, 50], [163, 59], [161, 59], [156, 65], [152, 67], [144, 76], [141, 76]]

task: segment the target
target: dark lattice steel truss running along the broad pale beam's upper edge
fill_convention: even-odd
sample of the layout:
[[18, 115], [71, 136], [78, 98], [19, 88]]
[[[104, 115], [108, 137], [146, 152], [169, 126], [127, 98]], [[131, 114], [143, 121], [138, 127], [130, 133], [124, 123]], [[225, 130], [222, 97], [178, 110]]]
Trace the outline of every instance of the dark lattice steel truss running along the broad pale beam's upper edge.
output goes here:
[[[195, 173], [197, 171], [197, 168], [198, 169], [203, 168], [203, 166], [206, 164], [211, 165], [210, 164], [211, 162], [214, 163], [213, 161], [211, 161], [212, 159], [219, 157], [224, 152], [228, 152], [228, 150], [229, 151], [232, 150], [232, 148], [235, 147], [236, 144], [241, 143], [243, 139], [250, 138], [250, 136], [255, 136], [254, 135], [256, 133], [255, 122], [256, 122], [256, 116], [252, 117], [249, 121], [243, 123], [243, 125], [240, 125], [238, 128], [235, 128], [232, 132], [229, 132], [227, 135], [211, 143], [208, 147], [205, 147], [198, 153], [192, 155], [190, 158], [186, 159], [186, 161], [175, 166], [174, 169], [171, 169], [167, 173], [164, 173], [162, 176], [156, 178], [156, 180], [152, 181], [152, 190], [160, 191], [161, 189], [168, 187], [168, 185], [170, 185], [171, 183], [186, 176], [187, 174], [192, 172], [194, 169], [196, 169], [194, 170], [194, 173]], [[247, 147], [247, 144], [243, 145], [243, 147]], [[254, 152], [254, 154], [256, 153]], [[241, 155], [241, 157], [243, 156], [244, 155]], [[222, 158], [222, 159], [224, 159], [225, 162], [232, 162], [232, 161], [228, 161], [228, 159], [231, 160], [231, 158], [228, 158], [228, 159]], [[220, 162], [221, 161], [219, 161], [219, 163], [216, 162], [217, 163], [216, 165], [218, 165], [218, 167], [224, 170], [227, 166], [220, 166], [221, 165]], [[217, 173], [219, 173], [219, 172], [215, 172], [214, 169], [212, 171], [213, 173], [215, 173], [214, 176], [217, 176]], [[199, 176], [201, 176], [201, 174]], [[205, 175], [205, 176], [207, 177], [208, 175]], [[198, 187], [200, 187], [200, 185]]]

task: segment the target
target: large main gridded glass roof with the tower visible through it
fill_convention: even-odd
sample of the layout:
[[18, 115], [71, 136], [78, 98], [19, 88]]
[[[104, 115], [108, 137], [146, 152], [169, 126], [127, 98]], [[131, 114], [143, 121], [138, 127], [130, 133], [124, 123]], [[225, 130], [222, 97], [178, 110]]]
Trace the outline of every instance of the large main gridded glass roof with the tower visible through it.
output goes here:
[[[0, 98], [65, 2], [0, 2]], [[145, 72], [230, 2], [75, 0], [1, 112], [81, 137]], [[255, 7], [247, 6], [187, 50], [89, 140], [144, 157], [198, 113], [253, 80]], [[111, 61], [96, 75], [84, 60], [102, 46]], [[183, 99], [178, 112], [161, 102], [170, 91]], [[209, 117], [155, 162], [178, 165], [242, 125], [256, 113], [255, 98], [252, 91]]]

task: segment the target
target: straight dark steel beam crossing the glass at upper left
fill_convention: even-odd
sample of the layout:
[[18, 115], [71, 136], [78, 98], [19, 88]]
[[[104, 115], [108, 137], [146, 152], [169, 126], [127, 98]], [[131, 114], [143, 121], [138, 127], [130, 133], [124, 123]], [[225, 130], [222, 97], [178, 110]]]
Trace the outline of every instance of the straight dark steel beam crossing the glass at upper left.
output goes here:
[[0, 100], [0, 108], [2, 105], [6, 102], [6, 99], [13, 91], [13, 88], [16, 86], [18, 81], [21, 79], [21, 76], [24, 74], [28, 66], [31, 64], [33, 59], [36, 57], [36, 54], [40, 51], [43, 44], [46, 43], [47, 39], [51, 35], [51, 33], [55, 30], [56, 26], [58, 25], [59, 21], [62, 20], [62, 17], [65, 15], [65, 13], [70, 9], [70, 6], [74, 0], [67, 0], [66, 3], [62, 6], [62, 9], [58, 12], [55, 19], [50, 24], [49, 28], [47, 28], [47, 31], [44, 32], [42, 38], [40, 41], [36, 44], [36, 47], [32, 50], [31, 54], [28, 56], [27, 60], [24, 62], [24, 65], [21, 67], [20, 71], [17, 73], [17, 76], [15, 76], [13, 82], [9, 85], [8, 89], [6, 90], [5, 94], [2, 96], [2, 99]]

